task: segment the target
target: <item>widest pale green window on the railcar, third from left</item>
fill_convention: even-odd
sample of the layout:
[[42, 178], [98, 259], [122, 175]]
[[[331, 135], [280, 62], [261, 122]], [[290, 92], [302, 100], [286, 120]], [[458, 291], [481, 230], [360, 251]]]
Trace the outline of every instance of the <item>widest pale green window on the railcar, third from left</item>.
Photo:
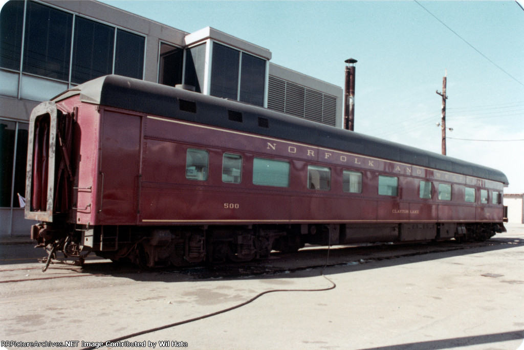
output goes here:
[[255, 158], [253, 160], [253, 184], [289, 187], [289, 162]]

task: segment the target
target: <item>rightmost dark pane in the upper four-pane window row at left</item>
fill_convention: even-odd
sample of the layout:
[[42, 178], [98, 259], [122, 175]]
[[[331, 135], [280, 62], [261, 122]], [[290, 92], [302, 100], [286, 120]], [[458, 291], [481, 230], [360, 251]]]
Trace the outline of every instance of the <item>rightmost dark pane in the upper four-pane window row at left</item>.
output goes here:
[[146, 39], [128, 31], [117, 29], [115, 74], [142, 79]]

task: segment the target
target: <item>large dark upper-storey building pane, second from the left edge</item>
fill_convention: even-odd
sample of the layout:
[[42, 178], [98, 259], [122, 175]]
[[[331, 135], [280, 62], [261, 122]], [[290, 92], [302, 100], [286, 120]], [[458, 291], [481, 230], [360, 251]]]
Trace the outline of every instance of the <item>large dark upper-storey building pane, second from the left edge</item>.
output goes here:
[[24, 72], [69, 80], [73, 15], [27, 2]]

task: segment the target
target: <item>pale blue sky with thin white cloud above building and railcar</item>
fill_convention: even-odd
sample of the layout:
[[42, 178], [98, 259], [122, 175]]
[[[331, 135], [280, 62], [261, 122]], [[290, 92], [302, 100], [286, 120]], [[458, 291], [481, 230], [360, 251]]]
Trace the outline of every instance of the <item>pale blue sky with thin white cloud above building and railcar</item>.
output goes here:
[[355, 58], [355, 131], [438, 153], [435, 91], [447, 69], [447, 136], [455, 138], [447, 155], [500, 169], [506, 193], [524, 192], [524, 10], [516, 2], [104, 2], [188, 32], [219, 29], [338, 86], [344, 60]]

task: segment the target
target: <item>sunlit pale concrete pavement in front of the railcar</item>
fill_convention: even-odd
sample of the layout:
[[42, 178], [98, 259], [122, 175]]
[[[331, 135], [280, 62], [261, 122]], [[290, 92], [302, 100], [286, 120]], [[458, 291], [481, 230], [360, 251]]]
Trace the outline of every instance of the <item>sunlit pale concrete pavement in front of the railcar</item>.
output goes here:
[[[483, 246], [358, 262], [350, 256], [323, 271], [335, 289], [273, 292], [125, 341], [192, 349], [515, 350], [524, 339], [524, 225], [508, 231]], [[103, 264], [51, 266], [45, 274], [38, 264], [20, 264], [3, 272], [5, 280], [56, 279], [0, 285], [0, 340], [105, 342], [224, 310], [268, 290], [331, 286], [320, 268], [198, 279]], [[68, 274], [84, 278], [61, 278]], [[103, 348], [132, 348], [118, 344]]]

